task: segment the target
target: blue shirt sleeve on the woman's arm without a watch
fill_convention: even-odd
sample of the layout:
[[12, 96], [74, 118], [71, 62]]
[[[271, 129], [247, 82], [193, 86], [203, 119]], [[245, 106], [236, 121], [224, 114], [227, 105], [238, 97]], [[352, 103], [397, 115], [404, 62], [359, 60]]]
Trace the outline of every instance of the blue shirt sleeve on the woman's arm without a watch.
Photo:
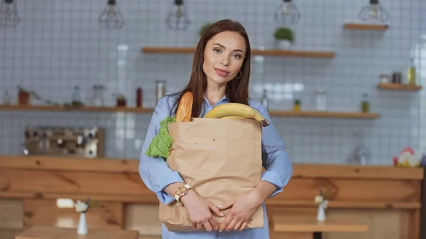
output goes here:
[[259, 111], [269, 121], [269, 126], [262, 127], [262, 165], [266, 169], [261, 180], [274, 184], [278, 189], [271, 194], [273, 197], [283, 191], [293, 175], [293, 166], [285, 151], [285, 143], [276, 130], [271, 116], [265, 106]]

